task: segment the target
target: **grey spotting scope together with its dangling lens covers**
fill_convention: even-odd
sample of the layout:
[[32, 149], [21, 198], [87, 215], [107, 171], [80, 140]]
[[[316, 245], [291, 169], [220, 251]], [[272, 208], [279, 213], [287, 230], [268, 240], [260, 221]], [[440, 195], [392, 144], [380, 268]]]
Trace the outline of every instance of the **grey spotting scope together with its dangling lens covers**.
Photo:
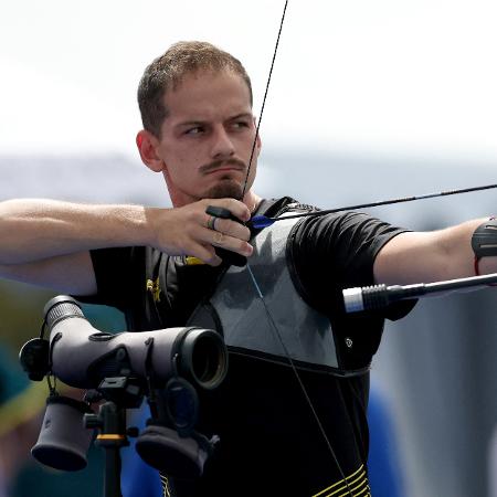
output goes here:
[[94, 429], [107, 434], [97, 436], [97, 442], [112, 440], [108, 430], [119, 431], [113, 436], [123, 441], [125, 421], [114, 411], [138, 408], [145, 392], [154, 412], [138, 434], [138, 454], [169, 476], [202, 474], [218, 438], [208, 440], [194, 431], [195, 387], [215, 389], [226, 376], [228, 350], [216, 331], [186, 327], [106, 334], [94, 328], [77, 302], [67, 296], [46, 304], [44, 324], [50, 339], [43, 338], [42, 329], [41, 337], [28, 341], [20, 352], [30, 378], [40, 381], [53, 376], [70, 387], [95, 389], [113, 408], [110, 413], [103, 412], [101, 405], [96, 415], [88, 402], [60, 395], [51, 388], [39, 440], [31, 451], [36, 461], [61, 470], [84, 468]]

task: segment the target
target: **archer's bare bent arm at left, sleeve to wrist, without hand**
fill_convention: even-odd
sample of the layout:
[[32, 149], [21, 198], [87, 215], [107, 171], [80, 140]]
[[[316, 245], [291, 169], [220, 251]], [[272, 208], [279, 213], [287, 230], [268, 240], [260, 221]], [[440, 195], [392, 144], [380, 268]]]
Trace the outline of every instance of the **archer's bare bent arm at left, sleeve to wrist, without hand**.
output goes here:
[[19, 199], [0, 203], [0, 276], [57, 292], [96, 292], [91, 248], [144, 243], [145, 209]]

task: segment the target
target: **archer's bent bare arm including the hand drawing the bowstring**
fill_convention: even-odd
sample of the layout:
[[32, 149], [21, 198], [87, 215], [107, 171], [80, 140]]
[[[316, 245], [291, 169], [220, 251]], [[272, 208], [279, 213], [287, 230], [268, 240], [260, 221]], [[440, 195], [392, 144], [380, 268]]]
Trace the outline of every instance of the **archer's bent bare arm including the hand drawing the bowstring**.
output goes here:
[[[208, 204], [229, 209], [242, 220], [250, 216], [246, 207], [232, 199], [202, 200], [179, 209], [34, 199], [0, 202], [0, 277], [93, 295], [97, 288], [88, 251], [115, 246], [148, 245], [218, 265], [216, 233], [207, 228]], [[245, 226], [230, 220], [218, 225], [226, 234], [225, 248], [251, 255]]]

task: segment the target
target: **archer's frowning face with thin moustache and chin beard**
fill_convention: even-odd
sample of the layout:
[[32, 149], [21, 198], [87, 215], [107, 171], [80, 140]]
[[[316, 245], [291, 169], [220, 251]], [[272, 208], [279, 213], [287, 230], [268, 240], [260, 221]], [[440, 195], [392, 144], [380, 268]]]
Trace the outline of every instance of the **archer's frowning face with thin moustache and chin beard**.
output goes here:
[[[169, 110], [157, 154], [176, 207], [204, 198], [240, 199], [255, 124], [245, 82], [236, 74], [188, 75], [165, 95]], [[252, 186], [257, 140], [247, 189]]]

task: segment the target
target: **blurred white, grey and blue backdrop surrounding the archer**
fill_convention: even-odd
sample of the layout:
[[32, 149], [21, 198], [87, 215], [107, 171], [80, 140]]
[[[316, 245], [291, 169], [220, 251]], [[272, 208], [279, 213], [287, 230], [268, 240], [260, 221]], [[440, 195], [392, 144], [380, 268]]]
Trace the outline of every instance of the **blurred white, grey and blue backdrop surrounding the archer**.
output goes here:
[[[135, 151], [144, 67], [175, 41], [211, 41], [244, 63], [258, 115], [283, 6], [3, 2], [0, 200], [169, 205], [162, 178]], [[496, 183], [496, 20], [495, 2], [485, 0], [290, 1], [256, 191], [336, 208]], [[432, 230], [497, 213], [496, 197], [370, 212]], [[52, 296], [0, 281], [0, 487], [4, 480], [9, 497], [57, 495], [42, 489], [53, 475], [41, 476], [29, 456], [46, 387], [30, 384], [17, 366]], [[424, 299], [385, 327], [372, 384], [387, 414], [372, 431], [388, 425], [378, 443], [392, 457], [400, 495], [497, 497], [496, 309], [496, 290], [457, 294]], [[97, 327], [124, 326], [112, 309], [86, 313]], [[98, 457], [77, 475], [81, 495], [96, 495], [91, 482], [99, 488]], [[72, 490], [81, 489], [71, 476]]]

